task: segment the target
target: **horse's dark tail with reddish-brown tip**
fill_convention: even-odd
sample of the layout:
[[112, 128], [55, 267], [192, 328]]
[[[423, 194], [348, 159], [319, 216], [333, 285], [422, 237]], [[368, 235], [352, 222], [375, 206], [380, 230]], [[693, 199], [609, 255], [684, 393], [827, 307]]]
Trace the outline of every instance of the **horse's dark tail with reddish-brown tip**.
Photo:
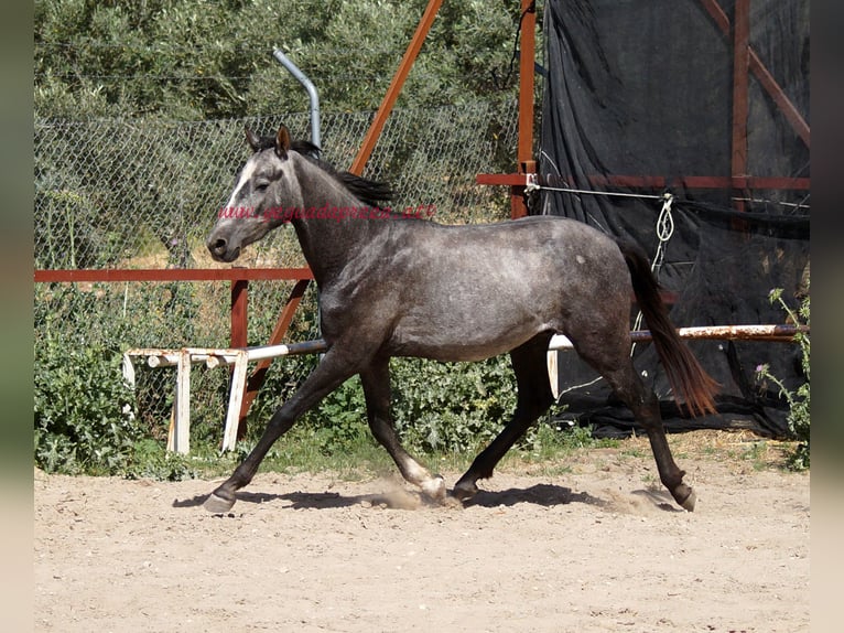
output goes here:
[[618, 240], [618, 248], [630, 269], [636, 299], [678, 404], [680, 399], [685, 401], [693, 416], [717, 412], [714, 396], [718, 384], [701, 367], [674, 330], [645, 251], [635, 244], [621, 240]]

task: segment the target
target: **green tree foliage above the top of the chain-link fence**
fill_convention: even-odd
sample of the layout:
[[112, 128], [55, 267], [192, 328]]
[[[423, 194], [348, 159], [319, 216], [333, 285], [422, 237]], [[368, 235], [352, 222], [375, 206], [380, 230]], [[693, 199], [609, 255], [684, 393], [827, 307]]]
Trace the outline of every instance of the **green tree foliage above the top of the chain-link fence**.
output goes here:
[[[35, 2], [35, 112], [88, 119], [194, 120], [302, 111], [283, 50], [311, 77], [324, 111], [378, 107], [424, 0], [90, 0]], [[445, 2], [399, 107], [512, 96], [507, 77], [518, 3]]]

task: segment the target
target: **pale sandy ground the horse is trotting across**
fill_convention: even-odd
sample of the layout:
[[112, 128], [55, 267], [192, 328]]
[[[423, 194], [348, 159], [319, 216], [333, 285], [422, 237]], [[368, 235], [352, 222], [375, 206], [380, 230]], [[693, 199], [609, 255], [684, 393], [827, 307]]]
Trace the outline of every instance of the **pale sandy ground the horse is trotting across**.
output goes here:
[[809, 631], [810, 475], [703, 437], [674, 449], [694, 513], [641, 440], [508, 466], [463, 508], [391, 476], [261, 473], [212, 515], [216, 482], [36, 471], [35, 631]]

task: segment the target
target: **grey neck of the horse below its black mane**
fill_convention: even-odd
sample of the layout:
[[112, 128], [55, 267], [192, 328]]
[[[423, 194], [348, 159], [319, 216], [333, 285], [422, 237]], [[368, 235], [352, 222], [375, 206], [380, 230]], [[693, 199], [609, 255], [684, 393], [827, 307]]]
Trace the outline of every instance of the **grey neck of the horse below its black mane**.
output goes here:
[[[358, 212], [367, 205], [315, 165], [302, 164], [297, 171], [302, 215], [305, 217], [294, 218], [292, 223], [302, 253], [317, 283], [322, 285], [338, 275], [371, 244], [376, 234], [386, 228], [386, 221], [372, 219], [368, 212], [366, 217], [360, 217]], [[316, 217], [323, 208], [326, 208], [327, 216]], [[346, 216], [337, 217], [342, 210], [346, 210]]]

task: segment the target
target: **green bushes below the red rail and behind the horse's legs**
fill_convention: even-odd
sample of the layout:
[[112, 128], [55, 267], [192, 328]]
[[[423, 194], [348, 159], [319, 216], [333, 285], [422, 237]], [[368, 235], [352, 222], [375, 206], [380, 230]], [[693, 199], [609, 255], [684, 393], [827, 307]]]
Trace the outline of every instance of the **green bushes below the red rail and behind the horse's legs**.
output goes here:
[[[131, 288], [131, 292], [129, 289]], [[288, 399], [318, 362], [314, 355], [273, 364], [250, 412], [249, 434], [232, 454], [219, 455], [228, 396], [225, 369], [195, 367], [191, 388], [191, 455], [165, 450], [174, 369], [136, 364], [134, 391], [122, 380], [121, 352], [133, 346], [178, 346], [219, 341], [206, 331], [206, 285], [40, 285], [36, 287], [34, 461], [47, 472], [178, 480], [230, 471], [246, 457], [275, 407]], [[225, 291], [225, 289], [224, 289]], [[224, 292], [225, 296], [225, 292]], [[260, 300], [260, 293], [256, 297]], [[305, 305], [296, 340], [312, 337]], [[267, 319], [271, 325], [272, 319]], [[260, 322], [260, 320], [257, 320]], [[143, 328], [139, 328], [142, 323]], [[310, 323], [310, 325], [309, 325]], [[256, 323], [260, 324], [260, 323]], [[506, 356], [480, 363], [392, 361], [393, 416], [402, 443], [422, 461], [465, 460], [486, 446], [510, 418], [516, 387]], [[544, 460], [588, 441], [588, 430], [560, 430], [542, 420], [517, 447], [521, 459]], [[361, 465], [361, 460], [369, 464]], [[349, 379], [297, 421], [268, 455], [268, 469], [339, 468], [354, 474], [389, 466], [372, 438], [363, 389]], [[221, 469], [221, 471], [220, 471]]]

